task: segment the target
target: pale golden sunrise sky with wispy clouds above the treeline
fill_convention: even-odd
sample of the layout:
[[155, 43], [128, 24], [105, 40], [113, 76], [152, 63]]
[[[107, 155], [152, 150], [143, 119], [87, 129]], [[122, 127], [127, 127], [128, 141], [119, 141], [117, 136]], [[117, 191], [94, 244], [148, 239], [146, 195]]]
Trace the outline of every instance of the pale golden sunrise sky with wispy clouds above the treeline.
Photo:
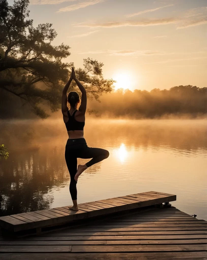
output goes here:
[[29, 10], [71, 47], [65, 61], [103, 62], [115, 89], [207, 87], [206, 0], [30, 0]]

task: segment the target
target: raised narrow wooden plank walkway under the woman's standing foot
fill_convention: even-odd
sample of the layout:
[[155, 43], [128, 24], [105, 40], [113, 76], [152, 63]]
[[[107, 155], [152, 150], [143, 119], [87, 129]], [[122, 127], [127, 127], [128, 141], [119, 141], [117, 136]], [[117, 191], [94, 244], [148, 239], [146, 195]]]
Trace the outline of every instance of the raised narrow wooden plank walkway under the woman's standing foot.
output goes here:
[[42, 228], [62, 225], [74, 220], [87, 219], [161, 203], [169, 203], [175, 200], [176, 195], [150, 191], [79, 204], [79, 211], [69, 210], [68, 206], [64, 206], [4, 216], [0, 217], [0, 226], [12, 232], [35, 228], [37, 232], [41, 232]]

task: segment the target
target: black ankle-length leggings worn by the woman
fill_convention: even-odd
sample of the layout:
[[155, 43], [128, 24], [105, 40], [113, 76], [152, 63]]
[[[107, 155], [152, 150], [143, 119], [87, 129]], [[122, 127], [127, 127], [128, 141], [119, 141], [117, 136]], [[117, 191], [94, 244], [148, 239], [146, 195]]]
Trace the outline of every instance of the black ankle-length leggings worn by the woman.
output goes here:
[[65, 159], [70, 173], [70, 195], [72, 200], [77, 199], [77, 189], [74, 177], [77, 172], [77, 158], [89, 159], [87, 167], [108, 158], [109, 152], [101, 148], [88, 147], [84, 138], [68, 139], [65, 150]]

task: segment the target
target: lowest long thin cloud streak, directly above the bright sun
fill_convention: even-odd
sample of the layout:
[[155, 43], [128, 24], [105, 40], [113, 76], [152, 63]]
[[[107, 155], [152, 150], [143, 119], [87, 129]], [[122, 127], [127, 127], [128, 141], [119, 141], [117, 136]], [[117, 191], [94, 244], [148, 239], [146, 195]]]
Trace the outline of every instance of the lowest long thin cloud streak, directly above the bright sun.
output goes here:
[[165, 53], [157, 50], [96, 50], [80, 52], [79, 54], [100, 54], [107, 53], [110, 56], [141, 56], [141, 55], [166, 55], [173, 53]]

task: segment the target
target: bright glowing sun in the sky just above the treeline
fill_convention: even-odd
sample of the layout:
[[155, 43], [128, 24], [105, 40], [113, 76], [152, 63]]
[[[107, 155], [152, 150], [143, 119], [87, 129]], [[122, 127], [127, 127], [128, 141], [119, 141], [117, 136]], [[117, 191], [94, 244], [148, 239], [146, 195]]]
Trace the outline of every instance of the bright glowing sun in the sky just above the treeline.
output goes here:
[[115, 90], [119, 88], [132, 89], [132, 75], [129, 71], [123, 70], [115, 72], [112, 76], [113, 80], [117, 81], [114, 83]]

